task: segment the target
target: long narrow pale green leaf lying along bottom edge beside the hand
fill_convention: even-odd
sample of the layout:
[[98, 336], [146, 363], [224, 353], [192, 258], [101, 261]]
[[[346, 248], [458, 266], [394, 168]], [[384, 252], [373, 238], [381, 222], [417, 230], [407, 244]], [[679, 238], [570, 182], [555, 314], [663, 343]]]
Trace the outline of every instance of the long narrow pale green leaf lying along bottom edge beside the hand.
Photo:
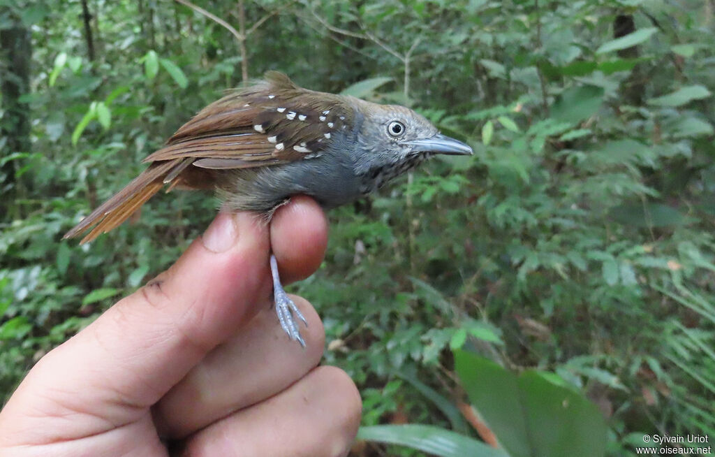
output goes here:
[[356, 439], [398, 444], [440, 457], [509, 457], [501, 449], [434, 426], [408, 424], [360, 427]]

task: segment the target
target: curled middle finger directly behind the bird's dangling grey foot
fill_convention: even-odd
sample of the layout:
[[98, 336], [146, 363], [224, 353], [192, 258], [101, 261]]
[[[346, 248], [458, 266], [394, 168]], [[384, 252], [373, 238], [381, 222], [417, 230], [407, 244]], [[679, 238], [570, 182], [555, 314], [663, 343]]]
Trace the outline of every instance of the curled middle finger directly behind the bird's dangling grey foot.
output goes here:
[[212, 350], [154, 407], [159, 434], [182, 438], [284, 390], [315, 368], [325, 331], [310, 303], [292, 296], [305, 315], [306, 347], [290, 342], [265, 308], [245, 329]]

